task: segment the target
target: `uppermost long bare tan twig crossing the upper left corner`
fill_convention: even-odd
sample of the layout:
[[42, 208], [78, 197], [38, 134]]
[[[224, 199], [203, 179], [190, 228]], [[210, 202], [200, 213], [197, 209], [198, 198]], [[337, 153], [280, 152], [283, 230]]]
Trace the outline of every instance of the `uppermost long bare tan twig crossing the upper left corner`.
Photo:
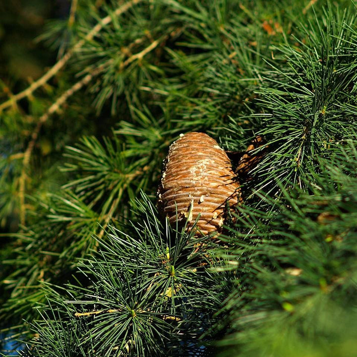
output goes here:
[[25, 90], [23, 90], [20, 93], [15, 94], [12, 96], [10, 99], [8, 99], [6, 102], [2, 103], [0, 105], [0, 112], [3, 111], [4, 109], [10, 107], [17, 101], [19, 101], [22, 98], [30, 96], [36, 89], [39, 87], [42, 87], [47, 81], [52, 78], [66, 63], [67, 61], [72, 57], [72, 55], [78, 51], [87, 41], [91, 41], [95, 35], [97, 35], [103, 27], [108, 25], [109, 23], [112, 22], [113, 16], [119, 16], [120, 14], [126, 12], [129, 8], [131, 8], [133, 5], [141, 2], [143, 0], [131, 0], [120, 7], [118, 7], [113, 14], [108, 15], [104, 17], [101, 21], [99, 21], [91, 31], [87, 33], [87, 35], [80, 41], [78, 41], [68, 52], [53, 66], [51, 67], [41, 78], [39, 78], [37, 81], [31, 83], [29, 87], [27, 87]]

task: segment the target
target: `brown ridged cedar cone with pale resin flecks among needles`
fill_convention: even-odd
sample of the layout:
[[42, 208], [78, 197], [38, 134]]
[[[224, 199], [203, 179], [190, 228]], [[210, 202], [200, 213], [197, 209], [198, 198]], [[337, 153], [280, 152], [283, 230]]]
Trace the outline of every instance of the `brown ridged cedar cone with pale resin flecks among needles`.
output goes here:
[[203, 235], [221, 232], [227, 202], [240, 201], [231, 161], [217, 141], [199, 132], [181, 134], [170, 146], [158, 190], [159, 211], [170, 224], [187, 219], [190, 230], [199, 215], [196, 227]]

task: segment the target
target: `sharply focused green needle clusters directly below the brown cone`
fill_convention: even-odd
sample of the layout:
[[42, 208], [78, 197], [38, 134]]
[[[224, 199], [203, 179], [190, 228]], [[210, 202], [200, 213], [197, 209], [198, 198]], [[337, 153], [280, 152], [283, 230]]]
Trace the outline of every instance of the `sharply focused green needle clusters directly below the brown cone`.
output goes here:
[[222, 294], [217, 272], [199, 268], [210, 264], [202, 249], [209, 242], [194, 238], [194, 231], [163, 227], [145, 196], [137, 204], [141, 223], [126, 227], [130, 235], [108, 230], [99, 252], [78, 265], [77, 283], [65, 289], [68, 300], [47, 289], [55, 301], [41, 312], [46, 322], [33, 326], [39, 337], [30, 356], [42, 356], [49, 346], [59, 356], [207, 352], [195, 340], [212, 324]]

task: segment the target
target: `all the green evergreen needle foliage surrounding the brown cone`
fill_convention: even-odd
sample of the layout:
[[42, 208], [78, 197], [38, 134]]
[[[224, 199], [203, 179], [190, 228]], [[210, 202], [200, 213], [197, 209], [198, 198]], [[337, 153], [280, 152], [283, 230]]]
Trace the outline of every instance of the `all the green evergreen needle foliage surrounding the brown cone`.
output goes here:
[[[0, 94], [0, 330], [20, 355], [354, 355], [356, 14], [72, 0], [47, 25], [54, 66]], [[266, 141], [223, 244], [155, 208], [193, 130]]]

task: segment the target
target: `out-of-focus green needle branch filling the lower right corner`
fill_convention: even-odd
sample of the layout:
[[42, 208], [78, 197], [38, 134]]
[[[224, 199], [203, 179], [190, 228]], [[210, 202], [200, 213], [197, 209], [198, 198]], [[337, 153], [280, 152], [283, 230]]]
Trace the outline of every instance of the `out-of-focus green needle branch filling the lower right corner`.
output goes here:
[[353, 356], [355, 143], [342, 152], [323, 161], [324, 175], [309, 194], [284, 191], [280, 202], [264, 197], [271, 211], [240, 208], [236, 244], [224, 251], [240, 289], [225, 301], [230, 334], [220, 345], [231, 349], [222, 356]]

